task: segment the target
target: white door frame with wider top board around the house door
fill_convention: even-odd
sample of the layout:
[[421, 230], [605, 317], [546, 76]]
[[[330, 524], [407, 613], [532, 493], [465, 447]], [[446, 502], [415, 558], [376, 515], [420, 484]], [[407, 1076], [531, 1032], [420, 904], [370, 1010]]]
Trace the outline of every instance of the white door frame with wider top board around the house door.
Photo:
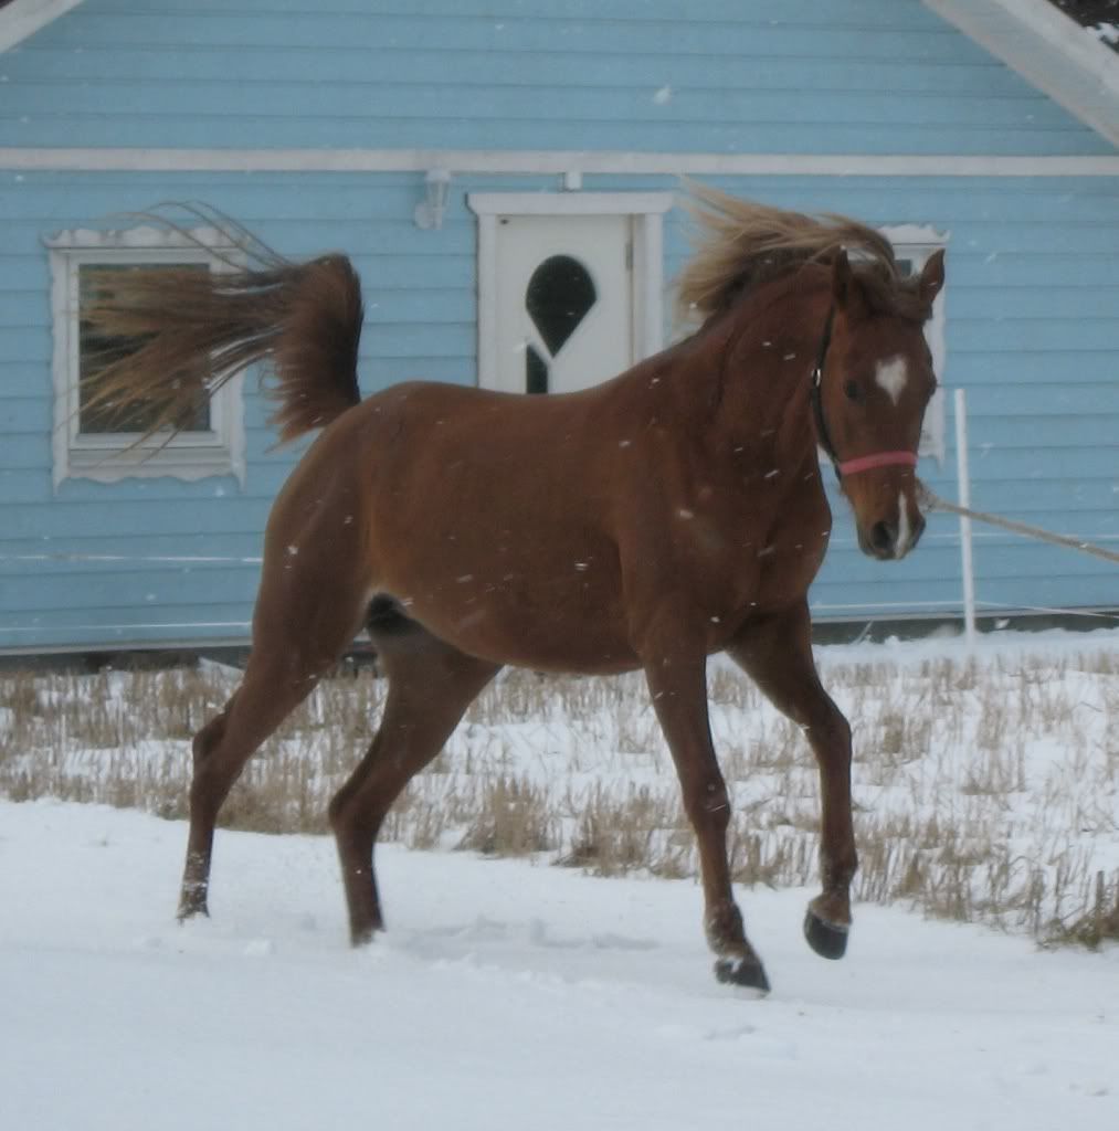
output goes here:
[[498, 388], [497, 261], [501, 216], [630, 216], [634, 222], [634, 344], [648, 357], [664, 343], [663, 217], [671, 192], [471, 192], [477, 216], [477, 383]]

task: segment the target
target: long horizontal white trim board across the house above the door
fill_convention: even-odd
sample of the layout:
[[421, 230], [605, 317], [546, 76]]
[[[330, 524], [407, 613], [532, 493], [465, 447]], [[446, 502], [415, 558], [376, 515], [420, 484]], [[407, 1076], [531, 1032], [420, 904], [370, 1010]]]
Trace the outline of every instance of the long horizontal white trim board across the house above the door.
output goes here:
[[[1085, 36], [1087, 37], [1087, 36]], [[626, 149], [124, 149], [3, 148], [11, 172], [454, 173], [739, 176], [1119, 176], [1119, 155], [634, 153]]]

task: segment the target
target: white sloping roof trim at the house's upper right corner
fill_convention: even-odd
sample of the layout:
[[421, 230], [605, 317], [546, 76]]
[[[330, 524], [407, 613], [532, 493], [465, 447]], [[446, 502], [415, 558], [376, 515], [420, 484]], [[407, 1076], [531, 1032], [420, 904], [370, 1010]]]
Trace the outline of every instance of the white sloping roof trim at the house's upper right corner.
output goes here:
[[923, 2], [1119, 146], [1119, 54], [1049, 0]]

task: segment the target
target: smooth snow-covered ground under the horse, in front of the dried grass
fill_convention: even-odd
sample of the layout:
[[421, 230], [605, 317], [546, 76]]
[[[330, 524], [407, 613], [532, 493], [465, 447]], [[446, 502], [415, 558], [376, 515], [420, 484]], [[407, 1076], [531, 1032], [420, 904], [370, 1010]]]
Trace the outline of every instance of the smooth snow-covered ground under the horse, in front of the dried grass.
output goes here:
[[1119, 951], [1045, 952], [806, 891], [740, 893], [774, 993], [717, 985], [690, 881], [378, 849], [389, 932], [345, 944], [334, 848], [0, 802], [5, 1128], [239, 1131], [1119, 1126]]

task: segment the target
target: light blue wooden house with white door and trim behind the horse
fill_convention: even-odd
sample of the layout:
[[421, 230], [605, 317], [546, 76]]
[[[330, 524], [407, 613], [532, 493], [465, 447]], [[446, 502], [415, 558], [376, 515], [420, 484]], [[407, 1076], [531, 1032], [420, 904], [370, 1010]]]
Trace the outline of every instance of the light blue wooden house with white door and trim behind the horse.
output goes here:
[[[679, 333], [681, 175], [947, 248], [929, 337], [972, 497], [1119, 544], [1119, 57], [1048, 0], [14, 0], [0, 7], [0, 651], [242, 642], [275, 450], [250, 374], [157, 450], [77, 381], [93, 265], [221, 269], [136, 214], [204, 201], [361, 273], [363, 387], [528, 391]], [[199, 245], [201, 244], [201, 247]], [[207, 249], [213, 250], [207, 250]], [[575, 260], [563, 340], [526, 309]], [[954, 498], [952, 398], [920, 474]], [[817, 619], [958, 614], [955, 521], [910, 559], [836, 530]], [[421, 520], [418, 518], [418, 520]], [[1113, 567], [979, 532], [981, 613], [1119, 606]]]

